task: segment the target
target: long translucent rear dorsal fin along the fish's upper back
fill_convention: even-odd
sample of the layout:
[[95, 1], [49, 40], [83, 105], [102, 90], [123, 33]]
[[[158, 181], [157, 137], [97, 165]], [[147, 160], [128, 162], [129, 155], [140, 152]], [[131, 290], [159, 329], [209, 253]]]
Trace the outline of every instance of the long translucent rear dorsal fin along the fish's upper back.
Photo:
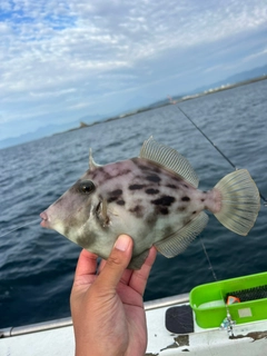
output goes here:
[[151, 160], [161, 167], [176, 172], [195, 188], [198, 187], [198, 176], [188, 160], [178, 154], [177, 150], [155, 141], [152, 136], [144, 142], [140, 158]]

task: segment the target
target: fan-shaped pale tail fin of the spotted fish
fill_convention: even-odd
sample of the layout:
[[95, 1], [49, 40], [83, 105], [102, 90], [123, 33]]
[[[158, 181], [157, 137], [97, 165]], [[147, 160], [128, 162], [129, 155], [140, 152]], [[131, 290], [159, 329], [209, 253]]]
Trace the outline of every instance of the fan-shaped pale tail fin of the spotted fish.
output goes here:
[[225, 176], [212, 191], [220, 196], [216, 218], [229, 230], [246, 236], [260, 208], [259, 191], [249, 172], [240, 169]]

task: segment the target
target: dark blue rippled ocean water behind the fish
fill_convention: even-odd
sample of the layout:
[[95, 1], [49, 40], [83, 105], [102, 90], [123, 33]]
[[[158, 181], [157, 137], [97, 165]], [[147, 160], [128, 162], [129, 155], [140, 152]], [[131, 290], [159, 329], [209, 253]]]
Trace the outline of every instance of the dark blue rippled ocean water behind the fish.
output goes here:
[[[247, 168], [267, 197], [267, 80], [184, 101], [179, 106], [238, 168]], [[199, 188], [207, 190], [231, 166], [175, 105], [0, 150], [0, 236], [38, 219], [88, 168], [138, 156], [154, 135], [186, 156]], [[267, 208], [247, 237], [222, 227], [212, 215], [181, 255], [158, 255], [145, 300], [187, 293], [214, 280], [267, 270]], [[81, 248], [39, 221], [0, 237], [0, 327], [70, 315], [69, 295]]]

